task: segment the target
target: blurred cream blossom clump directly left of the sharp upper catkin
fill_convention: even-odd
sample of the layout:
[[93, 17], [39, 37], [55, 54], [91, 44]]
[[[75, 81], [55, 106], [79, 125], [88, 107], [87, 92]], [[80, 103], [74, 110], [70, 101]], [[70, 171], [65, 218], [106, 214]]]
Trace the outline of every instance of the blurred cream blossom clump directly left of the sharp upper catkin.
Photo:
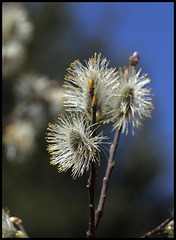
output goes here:
[[21, 111], [32, 117], [34, 125], [39, 122], [38, 127], [47, 119], [44, 117], [46, 114], [44, 105], [48, 105], [49, 114], [53, 117], [64, 109], [62, 101], [64, 89], [58, 85], [58, 81], [51, 80], [46, 75], [25, 73], [20, 76], [14, 89]]

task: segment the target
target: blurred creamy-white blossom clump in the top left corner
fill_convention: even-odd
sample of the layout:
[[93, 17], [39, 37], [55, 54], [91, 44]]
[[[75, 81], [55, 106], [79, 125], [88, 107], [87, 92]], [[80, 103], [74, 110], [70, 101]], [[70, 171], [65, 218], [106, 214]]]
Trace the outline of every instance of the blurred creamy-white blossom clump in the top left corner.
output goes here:
[[20, 69], [26, 58], [26, 43], [31, 39], [33, 25], [21, 3], [2, 6], [2, 61], [3, 77]]

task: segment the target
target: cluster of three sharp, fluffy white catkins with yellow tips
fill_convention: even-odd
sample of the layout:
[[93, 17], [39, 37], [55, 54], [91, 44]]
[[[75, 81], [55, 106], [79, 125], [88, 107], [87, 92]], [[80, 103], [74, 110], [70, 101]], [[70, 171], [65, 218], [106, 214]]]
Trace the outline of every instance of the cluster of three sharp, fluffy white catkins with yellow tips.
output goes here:
[[[147, 74], [140, 75], [141, 69], [136, 72], [135, 64], [116, 71], [96, 53], [85, 61], [85, 66], [79, 60], [71, 63], [63, 85], [66, 111], [49, 124], [46, 137], [50, 163], [58, 165], [59, 172], [71, 168], [75, 179], [88, 171], [91, 162], [99, 161], [97, 152], [106, 137], [93, 134], [95, 124], [113, 122], [113, 130], [122, 129], [126, 134], [130, 124], [134, 134], [133, 129], [151, 116], [150, 79]], [[96, 121], [92, 123], [95, 104]]]

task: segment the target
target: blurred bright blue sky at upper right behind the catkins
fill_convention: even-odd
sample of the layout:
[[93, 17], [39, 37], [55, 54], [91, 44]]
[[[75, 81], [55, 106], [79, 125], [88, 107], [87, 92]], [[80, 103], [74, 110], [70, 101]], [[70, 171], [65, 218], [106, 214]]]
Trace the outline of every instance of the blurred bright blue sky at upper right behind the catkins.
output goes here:
[[[151, 78], [155, 110], [153, 135], [162, 139], [168, 152], [167, 183], [173, 192], [174, 150], [174, 4], [172, 2], [82, 2], [69, 3], [75, 25], [87, 38], [98, 36], [106, 43], [106, 56], [126, 59], [140, 54], [139, 67]], [[90, 56], [91, 57], [91, 56]], [[112, 64], [113, 66], [113, 64]], [[113, 66], [114, 67], [114, 66]], [[118, 68], [118, 66], [116, 66]], [[164, 179], [161, 184], [166, 179]], [[165, 181], [166, 182], [166, 181]]]

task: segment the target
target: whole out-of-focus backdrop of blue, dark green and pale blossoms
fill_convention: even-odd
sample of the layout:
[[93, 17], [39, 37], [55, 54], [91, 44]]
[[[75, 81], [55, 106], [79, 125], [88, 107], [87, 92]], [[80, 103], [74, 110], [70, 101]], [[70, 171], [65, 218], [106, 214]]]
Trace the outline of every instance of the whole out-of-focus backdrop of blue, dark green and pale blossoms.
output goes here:
[[[101, 52], [118, 69], [138, 51], [155, 109], [135, 136], [120, 136], [97, 237], [141, 237], [170, 217], [173, 3], [4, 3], [2, 10], [2, 206], [30, 237], [86, 236], [89, 174], [72, 180], [50, 166], [46, 129], [64, 110], [71, 62]], [[103, 130], [113, 141], [111, 125]], [[107, 164], [101, 156], [96, 204]]]

